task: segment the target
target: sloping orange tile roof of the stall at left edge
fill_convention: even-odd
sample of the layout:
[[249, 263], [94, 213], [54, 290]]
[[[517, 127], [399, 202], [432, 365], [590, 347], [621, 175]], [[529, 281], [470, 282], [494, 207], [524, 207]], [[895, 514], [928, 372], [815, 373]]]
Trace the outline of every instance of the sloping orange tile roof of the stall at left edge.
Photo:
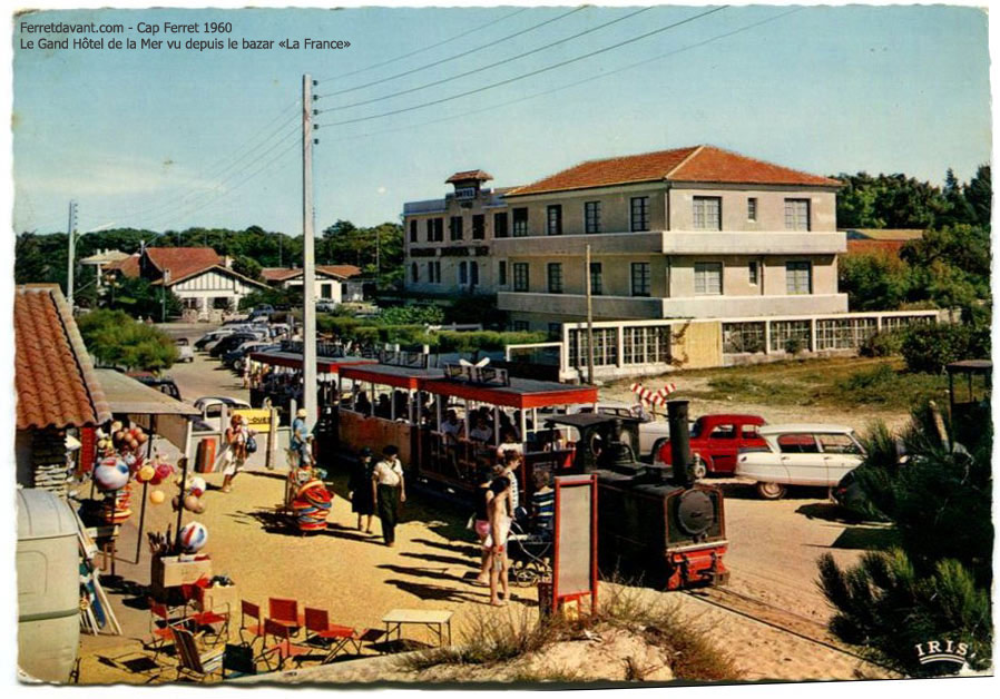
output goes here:
[[110, 420], [110, 406], [59, 287], [17, 287], [13, 323], [17, 429], [79, 427]]

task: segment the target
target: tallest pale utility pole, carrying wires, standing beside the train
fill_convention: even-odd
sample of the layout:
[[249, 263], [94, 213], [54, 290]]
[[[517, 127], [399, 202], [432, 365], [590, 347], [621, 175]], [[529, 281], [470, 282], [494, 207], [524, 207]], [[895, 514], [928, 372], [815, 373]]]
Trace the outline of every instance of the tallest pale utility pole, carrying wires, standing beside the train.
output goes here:
[[313, 234], [313, 79], [302, 76], [302, 394], [312, 429], [320, 414], [316, 392], [316, 256]]

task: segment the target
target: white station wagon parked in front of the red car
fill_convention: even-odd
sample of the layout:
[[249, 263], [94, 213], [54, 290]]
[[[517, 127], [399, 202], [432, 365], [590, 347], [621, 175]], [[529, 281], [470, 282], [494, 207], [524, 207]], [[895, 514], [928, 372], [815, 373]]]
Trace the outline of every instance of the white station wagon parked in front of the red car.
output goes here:
[[736, 475], [756, 481], [757, 493], [767, 500], [784, 495], [786, 485], [833, 488], [864, 460], [851, 427], [764, 425], [758, 433], [767, 446], [741, 453]]

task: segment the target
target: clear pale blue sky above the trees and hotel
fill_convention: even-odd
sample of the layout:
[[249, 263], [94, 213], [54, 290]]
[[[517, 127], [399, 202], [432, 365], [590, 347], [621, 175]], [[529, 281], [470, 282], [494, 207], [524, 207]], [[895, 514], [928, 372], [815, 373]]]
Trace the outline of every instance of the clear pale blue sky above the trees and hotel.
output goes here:
[[[320, 100], [317, 108], [332, 110], [316, 117], [323, 125], [314, 156], [317, 228], [337, 218], [357, 225], [396, 220], [403, 201], [441, 196], [455, 170], [482, 168], [496, 177], [494, 186], [510, 186], [589, 158], [696, 144], [816, 174], [902, 171], [935, 183], [948, 167], [965, 180], [990, 159], [988, 22], [983, 11], [967, 7], [732, 7], [502, 87], [379, 117], [712, 9], [656, 7], [489, 70], [350, 107], [479, 69], [637, 9], [586, 8], [486, 50]], [[220, 20], [233, 23], [229, 37], [237, 40], [312, 37], [349, 40], [351, 48], [20, 50], [19, 40], [31, 37], [16, 21], [14, 229], [63, 229], [75, 198], [81, 230], [111, 223], [156, 230], [256, 224], [297, 235], [295, 114], [303, 72], [318, 79], [317, 93], [330, 95], [570, 10], [86, 10], [20, 18], [127, 27]]]

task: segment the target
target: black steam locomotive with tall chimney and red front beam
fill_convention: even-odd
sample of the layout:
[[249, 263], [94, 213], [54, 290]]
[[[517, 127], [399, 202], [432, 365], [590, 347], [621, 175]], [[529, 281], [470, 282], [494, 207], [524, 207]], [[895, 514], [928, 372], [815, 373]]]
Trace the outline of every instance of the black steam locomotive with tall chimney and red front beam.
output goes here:
[[636, 459], [638, 421], [560, 415], [557, 426], [579, 432], [573, 471], [598, 478], [598, 565], [657, 589], [725, 584], [725, 503], [722, 490], [697, 482], [688, 449], [687, 402], [668, 404], [674, 464]]

